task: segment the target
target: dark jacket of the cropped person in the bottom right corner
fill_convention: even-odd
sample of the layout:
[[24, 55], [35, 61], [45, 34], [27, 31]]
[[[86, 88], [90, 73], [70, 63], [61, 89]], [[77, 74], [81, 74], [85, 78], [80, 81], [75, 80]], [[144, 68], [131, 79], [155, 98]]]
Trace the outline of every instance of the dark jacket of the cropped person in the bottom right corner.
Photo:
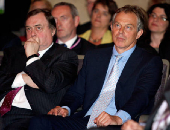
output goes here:
[[[164, 94], [162, 95], [162, 98], [160, 100], [160, 102], [155, 106], [155, 108], [153, 109], [153, 112], [152, 114], [150, 114], [148, 120], [147, 120], [147, 123], [146, 123], [146, 126], [145, 126], [145, 130], [150, 130], [152, 128], [152, 124], [153, 124], [153, 121], [154, 121], [154, 118], [157, 114], [157, 111], [159, 110], [160, 108], [160, 105], [162, 105], [162, 102], [164, 100], [167, 101], [168, 103], [168, 106], [170, 107], [170, 80], [167, 81], [168, 83], [166, 83], [166, 89], [165, 89], [165, 92]], [[170, 130], [170, 125], [168, 125], [167, 129], [166, 130]]]

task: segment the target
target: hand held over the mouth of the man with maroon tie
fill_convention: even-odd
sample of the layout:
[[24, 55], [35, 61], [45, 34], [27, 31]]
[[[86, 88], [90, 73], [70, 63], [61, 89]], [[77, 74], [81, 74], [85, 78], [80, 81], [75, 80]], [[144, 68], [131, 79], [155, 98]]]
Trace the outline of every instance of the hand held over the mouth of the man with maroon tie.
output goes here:
[[40, 48], [40, 39], [36, 36], [29, 38], [25, 44], [25, 54], [27, 57], [37, 54]]

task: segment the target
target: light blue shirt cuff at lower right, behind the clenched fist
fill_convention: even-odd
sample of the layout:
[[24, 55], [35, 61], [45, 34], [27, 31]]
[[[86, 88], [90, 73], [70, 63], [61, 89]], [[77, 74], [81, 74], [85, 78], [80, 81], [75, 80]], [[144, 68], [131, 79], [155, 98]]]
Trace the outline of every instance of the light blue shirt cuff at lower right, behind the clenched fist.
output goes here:
[[131, 116], [127, 112], [125, 112], [123, 110], [119, 110], [115, 114], [115, 116], [118, 116], [118, 117], [120, 117], [122, 119], [122, 124], [125, 123], [127, 120], [131, 119]]

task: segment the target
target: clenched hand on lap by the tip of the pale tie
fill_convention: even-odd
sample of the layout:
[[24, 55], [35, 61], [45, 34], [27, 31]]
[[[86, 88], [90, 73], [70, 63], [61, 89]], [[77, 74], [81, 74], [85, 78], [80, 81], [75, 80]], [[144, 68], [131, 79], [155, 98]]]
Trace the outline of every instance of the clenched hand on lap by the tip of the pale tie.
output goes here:
[[94, 123], [98, 127], [103, 127], [108, 125], [121, 125], [122, 119], [118, 116], [111, 116], [103, 111], [98, 117], [96, 117]]

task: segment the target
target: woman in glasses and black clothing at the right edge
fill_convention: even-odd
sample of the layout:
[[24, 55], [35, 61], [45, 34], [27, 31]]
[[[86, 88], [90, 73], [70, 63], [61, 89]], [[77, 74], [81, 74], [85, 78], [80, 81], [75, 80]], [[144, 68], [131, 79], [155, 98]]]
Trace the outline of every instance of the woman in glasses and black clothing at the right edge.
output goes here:
[[162, 59], [170, 61], [170, 5], [154, 4], [149, 8], [148, 16], [148, 31], [139, 39], [137, 45], [150, 45]]

